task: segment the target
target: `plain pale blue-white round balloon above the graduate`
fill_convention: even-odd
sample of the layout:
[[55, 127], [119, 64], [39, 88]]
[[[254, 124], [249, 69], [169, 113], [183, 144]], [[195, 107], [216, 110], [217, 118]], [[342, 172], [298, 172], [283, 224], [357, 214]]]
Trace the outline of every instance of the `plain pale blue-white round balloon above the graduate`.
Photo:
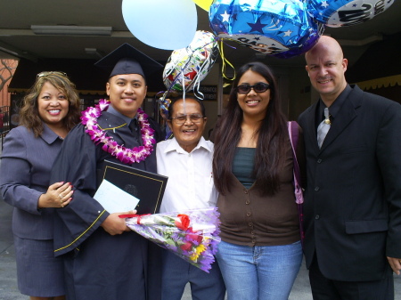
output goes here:
[[123, 0], [122, 14], [131, 33], [146, 45], [165, 50], [192, 42], [198, 24], [189, 0]]

